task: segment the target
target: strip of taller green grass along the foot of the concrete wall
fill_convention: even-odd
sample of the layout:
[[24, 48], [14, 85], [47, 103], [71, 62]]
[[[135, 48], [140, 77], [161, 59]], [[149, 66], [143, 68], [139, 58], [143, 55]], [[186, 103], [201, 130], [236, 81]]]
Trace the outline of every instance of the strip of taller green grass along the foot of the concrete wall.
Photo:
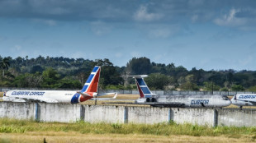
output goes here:
[[119, 123], [59, 123], [35, 122], [32, 120], [16, 120], [0, 118], [1, 133], [24, 133], [27, 131], [74, 131], [83, 134], [146, 134], [146, 135], [187, 135], [187, 136], [251, 136], [256, 139], [256, 127], [208, 127], [192, 124], [176, 124], [163, 122], [149, 124], [119, 124]]

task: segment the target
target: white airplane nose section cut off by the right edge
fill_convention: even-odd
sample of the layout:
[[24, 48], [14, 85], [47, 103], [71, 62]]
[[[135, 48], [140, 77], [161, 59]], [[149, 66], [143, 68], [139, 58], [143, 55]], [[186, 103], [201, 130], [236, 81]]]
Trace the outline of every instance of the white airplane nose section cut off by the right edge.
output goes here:
[[256, 106], [256, 94], [237, 94], [231, 99], [232, 104], [243, 106]]

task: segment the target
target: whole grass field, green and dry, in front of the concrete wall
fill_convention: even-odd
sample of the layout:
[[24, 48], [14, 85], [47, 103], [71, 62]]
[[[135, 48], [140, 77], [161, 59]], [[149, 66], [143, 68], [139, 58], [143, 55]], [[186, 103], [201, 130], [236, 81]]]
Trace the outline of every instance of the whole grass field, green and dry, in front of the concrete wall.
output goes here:
[[254, 142], [256, 127], [206, 127], [175, 122], [58, 123], [0, 119], [0, 142]]

